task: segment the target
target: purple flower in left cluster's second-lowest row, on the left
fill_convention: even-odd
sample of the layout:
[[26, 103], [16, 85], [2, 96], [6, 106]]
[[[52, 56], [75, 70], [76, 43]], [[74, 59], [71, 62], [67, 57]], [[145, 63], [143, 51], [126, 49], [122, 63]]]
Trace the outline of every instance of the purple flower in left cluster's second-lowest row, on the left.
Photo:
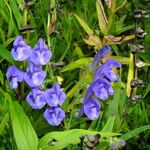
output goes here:
[[32, 89], [32, 92], [27, 95], [26, 100], [33, 109], [41, 109], [46, 104], [44, 91], [40, 91], [36, 88]]

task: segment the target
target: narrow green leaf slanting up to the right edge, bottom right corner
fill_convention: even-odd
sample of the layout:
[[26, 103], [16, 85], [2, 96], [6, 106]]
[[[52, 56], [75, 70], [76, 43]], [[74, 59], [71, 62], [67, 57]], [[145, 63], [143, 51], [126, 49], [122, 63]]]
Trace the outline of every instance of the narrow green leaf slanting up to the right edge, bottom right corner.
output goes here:
[[128, 140], [128, 139], [136, 136], [137, 134], [139, 134], [139, 133], [141, 133], [141, 132], [143, 132], [145, 130], [148, 130], [148, 129], [150, 130], [150, 125], [145, 125], [145, 126], [136, 128], [136, 129], [134, 129], [134, 130], [132, 130], [132, 131], [122, 135], [121, 138], [124, 139], [124, 140]]

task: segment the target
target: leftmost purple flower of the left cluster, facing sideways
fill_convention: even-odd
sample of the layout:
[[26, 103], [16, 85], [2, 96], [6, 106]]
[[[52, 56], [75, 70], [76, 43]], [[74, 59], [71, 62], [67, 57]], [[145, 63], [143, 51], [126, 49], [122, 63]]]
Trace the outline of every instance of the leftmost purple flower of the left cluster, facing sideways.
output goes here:
[[24, 72], [15, 66], [10, 66], [7, 70], [6, 77], [9, 80], [10, 87], [16, 89], [18, 88], [18, 82], [23, 81]]

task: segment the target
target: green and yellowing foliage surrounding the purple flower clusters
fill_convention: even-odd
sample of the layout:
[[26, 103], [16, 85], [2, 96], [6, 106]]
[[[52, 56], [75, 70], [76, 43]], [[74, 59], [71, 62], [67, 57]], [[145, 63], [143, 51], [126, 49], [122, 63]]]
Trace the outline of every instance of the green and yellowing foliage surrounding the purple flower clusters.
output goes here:
[[[126, 141], [125, 149], [150, 149], [150, 20], [142, 18], [147, 35], [139, 40], [145, 45], [137, 58], [143, 63], [137, 76], [146, 81], [144, 88], [136, 89], [142, 99], [130, 99], [130, 81], [133, 78], [133, 56], [127, 46], [133, 43], [135, 0], [0, 0], [0, 149], [47, 150], [79, 149], [81, 137], [100, 134], [97, 149], [109, 149], [115, 138]], [[140, 9], [150, 4], [141, 2]], [[6, 79], [10, 65], [26, 68], [15, 62], [10, 50], [17, 35], [23, 35], [32, 47], [44, 38], [53, 53], [44, 89], [59, 82], [67, 98], [62, 105], [67, 116], [58, 127], [50, 126], [43, 118], [44, 110], [33, 110], [26, 102], [30, 89], [24, 83], [11, 90]], [[108, 58], [122, 63], [118, 71], [121, 82], [113, 83], [115, 94], [102, 101], [100, 116], [90, 121], [77, 118], [82, 99], [91, 83], [93, 56], [104, 45], [110, 45]], [[65, 64], [65, 66], [64, 66]]]

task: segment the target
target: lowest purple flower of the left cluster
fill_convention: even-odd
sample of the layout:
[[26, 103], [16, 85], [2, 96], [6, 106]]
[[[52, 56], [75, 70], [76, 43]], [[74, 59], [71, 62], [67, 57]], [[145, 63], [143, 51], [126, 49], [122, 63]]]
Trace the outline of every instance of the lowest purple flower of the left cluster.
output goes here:
[[59, 107], [51, 107], [45, 110], [44, 118], [52, 126], [58, 126], [61, 123], [61, 121], [65, 118], [65, 113]]

